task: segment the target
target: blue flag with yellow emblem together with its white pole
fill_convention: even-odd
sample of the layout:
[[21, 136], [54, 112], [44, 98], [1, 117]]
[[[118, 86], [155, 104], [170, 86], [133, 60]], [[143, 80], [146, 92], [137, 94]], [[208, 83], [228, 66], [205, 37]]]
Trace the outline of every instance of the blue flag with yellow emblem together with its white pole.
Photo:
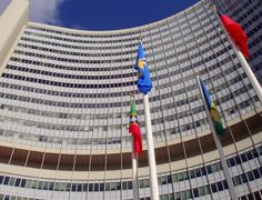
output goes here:
[[148, 97], [148, 93], [152, 89], [152, 82], [149, 74], [148, 63], [145, 61], [145, 54], [143, 51], [142, 41], [139, 42], [138, 57], [137, 57], [137, 63], [135, 63], [134, 69], [138, 71], [139, 91], [143, 93], [145, 131], [147, 131], [147, 141], [148, 141], [148, 159], [149, 159], [149, 169], [150, 169], [151, 199], [159, 200], [158, 176], [157, 176], [152, 124], [151, 124], [149, 97]]

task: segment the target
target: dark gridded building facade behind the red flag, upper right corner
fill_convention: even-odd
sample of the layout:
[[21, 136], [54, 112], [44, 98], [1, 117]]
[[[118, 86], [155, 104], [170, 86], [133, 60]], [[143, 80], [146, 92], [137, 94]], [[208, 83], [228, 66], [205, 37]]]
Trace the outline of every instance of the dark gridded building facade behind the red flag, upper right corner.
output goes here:
[[223, 13], [241, 23], [249, 41], [250, 66], [262, 84], [262, 2], [260, 0], [212, 0]]

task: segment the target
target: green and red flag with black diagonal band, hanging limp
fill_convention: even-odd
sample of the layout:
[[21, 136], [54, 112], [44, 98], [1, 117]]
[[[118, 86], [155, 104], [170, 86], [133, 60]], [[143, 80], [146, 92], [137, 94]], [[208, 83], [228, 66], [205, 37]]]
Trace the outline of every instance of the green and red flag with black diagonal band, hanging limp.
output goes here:
[[138, 124], [138, 116], [134, 101], [131, 101], [129, 132], [133, 136], [134, 152], [138, 154], [142, 154], [142, 137]]

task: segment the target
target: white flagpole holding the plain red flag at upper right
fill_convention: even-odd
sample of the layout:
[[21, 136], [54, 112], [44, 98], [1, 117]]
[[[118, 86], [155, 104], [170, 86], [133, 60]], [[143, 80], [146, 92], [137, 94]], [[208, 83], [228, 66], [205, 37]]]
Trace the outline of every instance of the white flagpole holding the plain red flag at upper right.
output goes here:
[[233, 47], [233, 50], [241, 63], [241, 66], [243, 67], [244, 72], [246, 73], [252, 87], [254, 88], [260, 101], [262, 102], [262, 88], [256, 79], [256, 77], [254, 76], [254, 72], [251, 70], [250, 64], [248, 63], [246, 59], [244, 58], [243, 53], [239, 50], [239, 48], [234, 44], [234, 42], [232, 41], [231, 37], [229, 36], [228, 31], [225, 30], [223, 23], [221, 22], [218, 13], [216, 13], [216, 7], [213, 4], [212, 10], [214, 11], [214, 14], [216, 17], [216, 19], [219, 19], [219, 22], [228, 38], [228, 41], [230, 42], [231, 47]]

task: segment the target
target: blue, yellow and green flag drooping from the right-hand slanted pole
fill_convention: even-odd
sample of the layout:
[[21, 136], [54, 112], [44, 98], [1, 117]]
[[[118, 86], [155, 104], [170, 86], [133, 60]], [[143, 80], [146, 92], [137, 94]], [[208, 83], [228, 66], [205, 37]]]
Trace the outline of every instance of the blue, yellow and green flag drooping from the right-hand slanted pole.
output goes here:
[[210, 114], [213, 119], [216, 133], [219, 136], [223, 136], [224, 129], [223, 129], [220, 113], [219, 113], [214, 102], [211, 100], [210, 94], [209, 94], [209, 90], [205, 88], [203, 81], [201, 80], [201, 78], [199, 78], [199, 80], [200, 80], [201, 89], [203, 91], [204, 100], [206, 102], [206, 106], [209, 107]]

